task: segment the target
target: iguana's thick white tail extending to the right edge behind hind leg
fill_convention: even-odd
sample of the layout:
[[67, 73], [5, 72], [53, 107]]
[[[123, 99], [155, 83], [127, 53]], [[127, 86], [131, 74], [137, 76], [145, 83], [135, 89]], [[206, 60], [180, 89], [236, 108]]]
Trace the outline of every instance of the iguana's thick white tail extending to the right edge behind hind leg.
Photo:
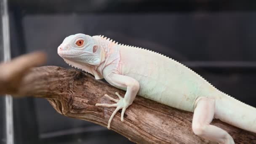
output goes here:
[[256, 133], [256, 108], [227, 96], [216, 99], [215, 118], [238, 128]]

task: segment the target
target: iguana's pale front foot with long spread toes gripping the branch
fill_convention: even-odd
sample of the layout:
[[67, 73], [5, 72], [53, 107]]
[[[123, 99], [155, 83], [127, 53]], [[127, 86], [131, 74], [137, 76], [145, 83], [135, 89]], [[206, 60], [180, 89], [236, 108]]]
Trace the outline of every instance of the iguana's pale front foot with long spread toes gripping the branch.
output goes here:
[[110, 128], [110, 123], [113, 119], [113, 117], [115, 116], [115, 114], [118, 112], [118, 110], [122, 109], [122, 113], [121, 113], [121, 121], [123, 122], [123, 116], [125, 114], [125, 110], [127, 109], [127, 107], [129, 107], [129, 104], [127, 102], [124, 101], [124, 98], [122, 96], [120, 96], [119, 93], [115, 93], [119, 99], [114, 99], [112, 97], [110, 97], [109, 95], [105, 94], [104, 96], [107, 97], [108, 99], [110, 99], [111, 101], [115, 101], [116, 104], [96, 104], [95, 106], [101, 106], [101, 107], [117, 107], [115, 109], [115, 111], [112, 113], [111, 117], [109, 118], [109, 123], [107, 125], [107, 128]]

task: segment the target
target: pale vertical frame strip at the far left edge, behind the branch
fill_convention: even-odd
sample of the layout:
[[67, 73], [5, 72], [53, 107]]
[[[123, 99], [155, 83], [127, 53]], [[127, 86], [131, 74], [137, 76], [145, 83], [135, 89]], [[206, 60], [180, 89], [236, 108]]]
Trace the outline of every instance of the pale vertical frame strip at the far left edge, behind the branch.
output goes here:
[[[9, 16], [7, 0], [0, 2], [0, 60], [9, 61], [11, 59], [10, 40], [9, 40]], [[1, 142], [3, 144], [13, 144], [13, 100], [11, 96], [0, 97], [0, 109], [3, 115], [0, 120]]]

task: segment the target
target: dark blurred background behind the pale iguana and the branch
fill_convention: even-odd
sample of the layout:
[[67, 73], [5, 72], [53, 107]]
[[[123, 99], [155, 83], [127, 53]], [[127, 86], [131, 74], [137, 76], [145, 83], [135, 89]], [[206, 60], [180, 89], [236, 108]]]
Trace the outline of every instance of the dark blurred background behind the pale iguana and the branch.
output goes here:
[[[0, 0], [3, 27], [4, 3]], [[11, 57], [36, 50], [68, 67], [57, 47], [68, 35], [105, 35], [163, 53], [221, 91], [256, 107], [255, 0], [7, 0]], [[0, 30], [3, 60], [4, 29]], [[99, 125], [64, 117], [45, 99], [13, 99], [15, 144], [132, 144]], [[0, 144], [6, 144], [0, 98]]]

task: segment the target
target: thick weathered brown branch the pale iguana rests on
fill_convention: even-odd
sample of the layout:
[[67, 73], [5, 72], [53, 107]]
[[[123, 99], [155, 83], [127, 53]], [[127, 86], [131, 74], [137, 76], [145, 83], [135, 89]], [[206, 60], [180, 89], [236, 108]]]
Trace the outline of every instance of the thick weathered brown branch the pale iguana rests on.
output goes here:
[[[61, 67], [33, 68], [24, 77], [16, 95], [30, 95], [48, 99], [61, 115], [87, 120], [107, 127], [115, 108], [96, 107], [96, 103], [112, 104], [104, 94], [115, 96], [125, 91], [112, 87], [88, 74]], [[56, 120], [55, 123], [58, 123]], [[213, 144], [192, 132], [192, 113], [174, 109], [137, 96], [125, 112], [114, 117], [111, 129], [140, 144]], [[237, 144], [256, 143], [256, 134], [213, 120], [213, 125], [226, 130]]]

